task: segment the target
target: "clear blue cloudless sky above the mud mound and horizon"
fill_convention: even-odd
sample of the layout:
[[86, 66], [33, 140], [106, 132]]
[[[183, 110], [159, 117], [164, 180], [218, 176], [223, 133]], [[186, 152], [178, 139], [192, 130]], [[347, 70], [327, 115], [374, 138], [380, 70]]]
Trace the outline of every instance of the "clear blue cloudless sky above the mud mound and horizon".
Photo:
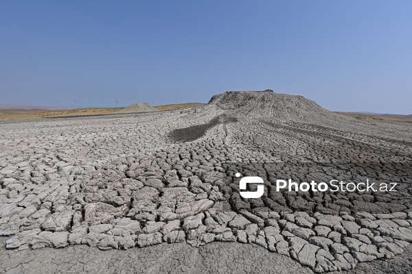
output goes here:
[[0, 1], [0, 104], [207, 102], [227, 90], [412, 114], [412, 1]]

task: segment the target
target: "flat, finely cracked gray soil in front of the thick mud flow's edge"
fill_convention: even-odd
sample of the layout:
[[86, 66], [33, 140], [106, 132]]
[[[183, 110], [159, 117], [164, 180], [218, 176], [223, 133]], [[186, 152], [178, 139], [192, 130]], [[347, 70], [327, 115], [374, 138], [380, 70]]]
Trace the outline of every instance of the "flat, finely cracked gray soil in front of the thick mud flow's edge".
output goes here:
[[0, 250], [0, 273], [312, 273], [287, 256], [236, 242], [213, 242], [200, 248], [163, 243], [108, 251], [85, 245]]

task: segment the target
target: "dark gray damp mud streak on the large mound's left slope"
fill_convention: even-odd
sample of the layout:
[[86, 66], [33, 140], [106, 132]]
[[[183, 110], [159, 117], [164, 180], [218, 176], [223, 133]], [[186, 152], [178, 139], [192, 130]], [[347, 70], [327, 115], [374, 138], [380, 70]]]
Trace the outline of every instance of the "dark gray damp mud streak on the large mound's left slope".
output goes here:
[[201, 138], [205, 135], [208, 129], [211, 129], [215, 125], [220, 123], [233, 123], [237, 122], [238, 119], [234, 117], [229, 117], [227, 115], [220, 115], [211, 119], [209, 123], [201, 124], [201, 125], [192, 125], [191, 127], [185, 127], [181, 129], [174, 129], [170, 133], [170, 138], [174, 142], [190, 142]]

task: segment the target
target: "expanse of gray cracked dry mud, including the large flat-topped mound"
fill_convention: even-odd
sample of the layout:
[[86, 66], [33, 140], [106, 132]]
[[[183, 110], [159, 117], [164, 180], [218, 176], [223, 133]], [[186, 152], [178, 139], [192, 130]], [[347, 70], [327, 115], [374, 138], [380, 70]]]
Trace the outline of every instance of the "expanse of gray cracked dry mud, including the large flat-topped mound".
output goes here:
[[[0, 273], [412, 271], [410, 123], [225, 92], [181, 111], [3, 119], [0, 155]], [[264, 195], [241, 197], [236, 173]], [[288, 178], [397, 191], [276, 191]]]

